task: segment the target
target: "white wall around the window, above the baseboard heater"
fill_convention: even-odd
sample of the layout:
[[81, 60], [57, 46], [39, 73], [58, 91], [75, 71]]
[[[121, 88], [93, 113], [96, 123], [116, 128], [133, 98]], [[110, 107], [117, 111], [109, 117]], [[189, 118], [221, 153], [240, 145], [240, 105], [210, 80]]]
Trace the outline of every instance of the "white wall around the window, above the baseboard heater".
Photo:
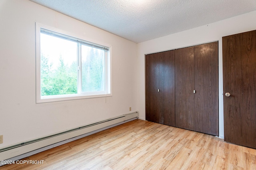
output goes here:
[[[136, 43], [28, 0], [0, 0], [0, 149], [136, 111]], [[35, 22], [112, 45], [112, 97], [36, 104]]]

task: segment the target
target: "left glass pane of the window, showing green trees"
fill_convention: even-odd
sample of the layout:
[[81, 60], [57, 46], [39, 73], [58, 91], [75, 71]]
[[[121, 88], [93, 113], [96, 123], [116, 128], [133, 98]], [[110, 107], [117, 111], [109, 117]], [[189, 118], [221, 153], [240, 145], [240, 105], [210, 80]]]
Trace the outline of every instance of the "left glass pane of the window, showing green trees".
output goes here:
[[41, 33], [41, 96], [77, 94], [77, 43]]

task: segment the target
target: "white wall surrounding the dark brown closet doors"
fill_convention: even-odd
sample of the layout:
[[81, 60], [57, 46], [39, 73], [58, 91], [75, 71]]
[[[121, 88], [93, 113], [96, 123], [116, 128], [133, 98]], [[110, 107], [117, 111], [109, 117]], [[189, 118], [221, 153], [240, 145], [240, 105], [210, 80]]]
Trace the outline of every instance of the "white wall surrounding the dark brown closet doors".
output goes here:
[[224, 138], [222, 37], [256, 29], [256, 11], [138, 44], [136, 106], [145, 119], [145, 54], [219, 41], [219, 135]]

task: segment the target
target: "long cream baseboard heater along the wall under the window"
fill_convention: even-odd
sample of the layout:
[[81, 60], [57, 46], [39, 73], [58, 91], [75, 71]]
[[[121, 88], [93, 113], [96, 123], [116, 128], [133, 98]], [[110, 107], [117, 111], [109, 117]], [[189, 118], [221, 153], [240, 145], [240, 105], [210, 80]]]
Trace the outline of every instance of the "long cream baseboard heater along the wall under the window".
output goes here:
[[[109, 129], [111, 127], [138, 119], [139, 112], [128, 113], [111, 119], [106, 119], [90, 125], [85, 125], [75, 129], [70, 129], [61, 133], [42, 137], [33, 141], [28, 141], [0, 149], [0, 160], [19, 160], [33, 154], [48, 150], [65, 143], [75, 141], [82, 137]], [[0, 163], [0, 166], [2, 164]]]

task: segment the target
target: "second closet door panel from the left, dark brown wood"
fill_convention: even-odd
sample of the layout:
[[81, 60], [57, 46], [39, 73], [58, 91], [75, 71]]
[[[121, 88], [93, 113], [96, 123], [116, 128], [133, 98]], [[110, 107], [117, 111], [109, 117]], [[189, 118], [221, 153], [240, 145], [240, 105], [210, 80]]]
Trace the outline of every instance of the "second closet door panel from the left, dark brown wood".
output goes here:
[[159, 56], [159, 123], [175, 126], [175, 53], [165, 51]]

